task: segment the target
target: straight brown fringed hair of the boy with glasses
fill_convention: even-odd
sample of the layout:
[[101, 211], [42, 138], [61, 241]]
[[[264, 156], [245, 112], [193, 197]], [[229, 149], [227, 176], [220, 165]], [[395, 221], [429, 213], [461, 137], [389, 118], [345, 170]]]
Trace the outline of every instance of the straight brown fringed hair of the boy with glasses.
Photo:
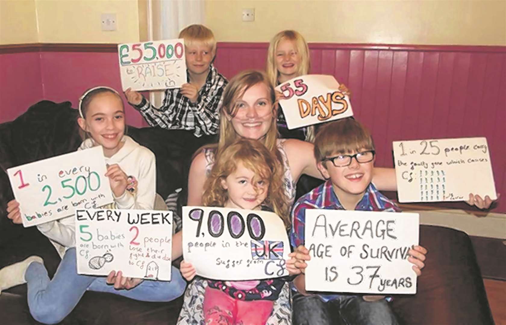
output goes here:
[[317, 162], [336, 154], [374, 150], [371, 134], [352, 117], [326, 123], [318, 130], [314, 144]]

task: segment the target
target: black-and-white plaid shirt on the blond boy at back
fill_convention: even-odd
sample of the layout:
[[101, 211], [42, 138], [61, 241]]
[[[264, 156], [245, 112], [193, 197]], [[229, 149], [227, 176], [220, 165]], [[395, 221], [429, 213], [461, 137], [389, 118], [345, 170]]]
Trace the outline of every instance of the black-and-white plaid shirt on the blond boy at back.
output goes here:
[[[189, 80], [188, 80], [189, 81]], [[211, 64], [204, 85], [198, 92], [196, 103], [191, 103], [180, 92], [181, 88], [165, 89], [160, 108], [146, 99], [134, 106], [151, 126], [167, 129], [195, 130], [193, 134], [216, 134], [220, 126], [222, 94], [228, 81]]]

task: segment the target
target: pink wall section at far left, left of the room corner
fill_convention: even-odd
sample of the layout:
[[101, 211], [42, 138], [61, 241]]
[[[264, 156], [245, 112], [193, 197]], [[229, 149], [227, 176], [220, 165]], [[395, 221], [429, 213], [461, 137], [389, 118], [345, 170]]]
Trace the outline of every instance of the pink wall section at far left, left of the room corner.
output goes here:
[[12, 121], [43, 98], [40, 53], [0, 54], [0, 123]]

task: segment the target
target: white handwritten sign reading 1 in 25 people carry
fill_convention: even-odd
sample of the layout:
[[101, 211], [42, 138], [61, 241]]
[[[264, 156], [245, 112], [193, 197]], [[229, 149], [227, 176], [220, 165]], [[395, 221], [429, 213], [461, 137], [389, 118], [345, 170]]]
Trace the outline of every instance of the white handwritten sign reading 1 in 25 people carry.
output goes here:
[[394, 141], [399, 202], [497, 198], [487, 140], [469, 137]]

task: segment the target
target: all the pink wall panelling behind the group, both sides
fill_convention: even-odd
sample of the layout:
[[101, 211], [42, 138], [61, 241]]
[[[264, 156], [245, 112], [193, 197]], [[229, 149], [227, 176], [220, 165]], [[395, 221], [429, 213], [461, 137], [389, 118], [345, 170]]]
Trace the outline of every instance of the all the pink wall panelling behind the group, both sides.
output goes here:
[[[393, 166], [392, 141], [486, 136], [506, 212], [506, 47], [311, 43], [311, 73], [351, 91], [355, 116], [372, 132], [377, 166]], [[112, 48], [112, 47], [111, 47]], [[231, 78], [265, 69], [267, 43], [218, 43], [215, 65]], [[93, 51], [93, 50], [92, 50]], [[96, 85], [121, 89], [115, 50], [0, 54], [0, 122], [42, 99], [71, 101]], [[126, 104], [129, 124], [146, 126]]]

